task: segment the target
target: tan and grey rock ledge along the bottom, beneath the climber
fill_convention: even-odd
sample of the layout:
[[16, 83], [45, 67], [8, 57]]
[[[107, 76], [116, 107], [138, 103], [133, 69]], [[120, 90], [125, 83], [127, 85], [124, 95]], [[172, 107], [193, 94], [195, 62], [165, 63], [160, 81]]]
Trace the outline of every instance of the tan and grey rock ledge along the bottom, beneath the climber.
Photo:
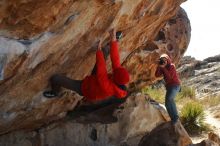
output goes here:
[[[75, 120], [61, 121], [32, 132], [12, 132], [4, 135], [0, 137], [0, 145], [136, 146], [146, 133], [165, 123], [166, 118], [164, 117], [168, 116], [164, 108], [158, 104], [151, 104], [146, 99], [148, 97], [141, 94], [130, 96], [123, 104], [123, 108], [115, 112], [118, 122], [113, 124], [81, 124], [76, 123]], [[170, 125], [170, 123], [166, 122], [165, 125]], [[167, 131], [172, 131], [172, 134], [167, 135], [166, 138], [176, 137], [177, 134], [172, 127], [168, 126]], [[167, 134], [165, 131], [159, 131], [159, 133], [161, 132]], [[191, 144], [190, 138], [184, 136], [187, 135], [178, 135], [176, 140], [185, 139], [187, 144]], [[167, 139], [164, 139], [164, 141], [166, 141], [164, 144], [169, 144], [170, 142]]]

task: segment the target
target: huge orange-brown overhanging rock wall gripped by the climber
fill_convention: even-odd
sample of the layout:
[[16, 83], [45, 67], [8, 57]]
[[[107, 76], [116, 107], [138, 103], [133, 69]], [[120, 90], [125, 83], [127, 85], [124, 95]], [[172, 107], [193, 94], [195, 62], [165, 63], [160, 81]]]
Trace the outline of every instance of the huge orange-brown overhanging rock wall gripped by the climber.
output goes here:
[[[83, 79], [95, 63], [94, 44], [122, 30], [120, 56], [129, 87], [155, 81], [155, 60], [177, 62], [190, 39], [185, 0], [2, 0], [0, 2], [0, 134], [34, 129], [65, 116], [81, 98], [68, 92], [48, 100], [42, 91], [54, 73]], [[108, 66], [110, 66], [108, 61]]]

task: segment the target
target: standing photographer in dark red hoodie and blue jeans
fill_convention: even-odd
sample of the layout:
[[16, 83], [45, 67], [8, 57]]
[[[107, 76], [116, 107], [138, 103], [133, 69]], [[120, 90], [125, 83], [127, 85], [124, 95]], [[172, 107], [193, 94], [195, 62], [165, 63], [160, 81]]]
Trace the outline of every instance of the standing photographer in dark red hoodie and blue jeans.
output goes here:
[[178, 112], [174, 98], [180, 91], [180, 80], [175, 69], [175, 65], [171, 63], [171, 59], [167, 54], [160, 56], [158, 67], [155, 73], [156, 77], [162, 76], [166, 82], [165, 106], [173, 124], [178, 121]]

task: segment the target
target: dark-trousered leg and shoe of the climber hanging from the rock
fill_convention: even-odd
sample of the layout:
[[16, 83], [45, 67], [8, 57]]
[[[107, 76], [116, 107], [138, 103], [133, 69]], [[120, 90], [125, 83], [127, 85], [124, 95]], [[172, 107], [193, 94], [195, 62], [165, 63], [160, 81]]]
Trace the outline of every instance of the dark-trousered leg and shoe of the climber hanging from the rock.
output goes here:
[[73, 90], [79, 95], [82, 95], [82, 91], [81, 91], [82, 81], [81, 80], [73, 80], [66, 76], [56, 74], [51, 77], [50, 83], [51, 83], [51, 90], [45, 91], [43, 93], [45, 97], [52, 98], [52, 97], [58, 96], [58, 93], [60, 92], [61, 87]]

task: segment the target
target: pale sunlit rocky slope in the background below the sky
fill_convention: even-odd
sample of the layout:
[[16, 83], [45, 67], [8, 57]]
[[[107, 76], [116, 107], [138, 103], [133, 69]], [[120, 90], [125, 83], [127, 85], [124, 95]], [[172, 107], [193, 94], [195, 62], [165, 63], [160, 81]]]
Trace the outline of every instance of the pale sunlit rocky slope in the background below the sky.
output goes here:
[[203, 61], [184, 57], [180, 66], [178, 71], [183, 84], [193, 85], [198, 97], [220, 95], [220, 55]]

